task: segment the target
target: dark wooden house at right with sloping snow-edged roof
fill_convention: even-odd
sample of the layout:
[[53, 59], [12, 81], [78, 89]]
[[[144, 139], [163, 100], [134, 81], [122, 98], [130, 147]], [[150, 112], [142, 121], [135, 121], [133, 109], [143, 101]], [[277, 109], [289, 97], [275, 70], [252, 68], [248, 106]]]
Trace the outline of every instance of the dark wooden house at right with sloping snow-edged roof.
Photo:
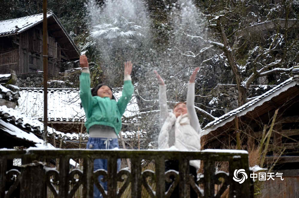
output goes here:
[[[207, 124], [202, 131], [204, 148], [236, 148], [237, 134], [241, 149], [258, 150], [261, 139], [270, 131], [263, 166], [283, 173], [284, 180], [264, 182], [262, 197], [296, 197], [299, 191], [299, 66], [294, 77], [275, 86], [237, 109]], [[277, 113], [275, 113], [277, 111]], [[275, 115], [276, 114], [276, 115]], [[275, 117], [275, 116], [276, 117]], [[275, 117], [275, 120], [274, 120]], [[274, 120], [274, 121], [273, 121]], [[265, 138], [264, 138], [265, 139]], [[263, 144], [265, 145], [265, 144]], [[262, 154], [262, 155], [261, 155]], [[263, 152], [255, 155], [257, 162]], [[251, 159], [250, 159], [251, 160]], [[254, 164], [251, 164], [252, 166]], [[265, 172], [265, 171], [263, 171]], [[295, 196], [296, 195], [296, 196]]]

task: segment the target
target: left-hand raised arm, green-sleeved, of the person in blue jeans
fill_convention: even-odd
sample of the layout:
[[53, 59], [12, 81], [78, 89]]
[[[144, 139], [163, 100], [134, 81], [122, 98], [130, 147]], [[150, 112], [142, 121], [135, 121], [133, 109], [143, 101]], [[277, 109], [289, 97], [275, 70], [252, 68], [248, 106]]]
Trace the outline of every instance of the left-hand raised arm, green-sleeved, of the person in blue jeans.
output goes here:
[[85, 114], [89, 115], [89, 110], [92, 105], [92, 95], [90, 91], [90, 73], [88, 60], [85, 55], [80, 56], [80, 67], [82, 72], [80, 75], [80, 98]]

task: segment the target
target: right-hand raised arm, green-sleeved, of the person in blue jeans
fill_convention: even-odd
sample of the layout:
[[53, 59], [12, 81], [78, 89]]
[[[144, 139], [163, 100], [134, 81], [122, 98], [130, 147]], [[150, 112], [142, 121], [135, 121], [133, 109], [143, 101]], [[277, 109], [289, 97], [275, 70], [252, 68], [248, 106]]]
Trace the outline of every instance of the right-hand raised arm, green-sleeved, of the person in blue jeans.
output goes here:
[[132, 67], [133, 64], [131, 63], [131, 61], [125, 63], [123, 92], [120, 99], [117, 102], [118, 110], [121, 115], [123, 115], [123, 113], [125, 112], [127, 104], [132, 99], [132, 94], [134, 92], [134, 86], [132, 85], [132, 79], [131, 79]]

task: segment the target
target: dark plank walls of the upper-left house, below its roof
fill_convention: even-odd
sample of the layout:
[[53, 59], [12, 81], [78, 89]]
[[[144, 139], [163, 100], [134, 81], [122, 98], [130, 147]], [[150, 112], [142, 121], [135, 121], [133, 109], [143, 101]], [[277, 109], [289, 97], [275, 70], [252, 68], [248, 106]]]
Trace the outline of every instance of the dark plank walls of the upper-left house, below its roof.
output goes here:
[[[0, 37], [0, 74], [16, 74], [43, 70], [42, 27], [37, 25], [18, 35]], [[55, 38], [48, 35], [48, 72], [61, 71], [61, 48]]]

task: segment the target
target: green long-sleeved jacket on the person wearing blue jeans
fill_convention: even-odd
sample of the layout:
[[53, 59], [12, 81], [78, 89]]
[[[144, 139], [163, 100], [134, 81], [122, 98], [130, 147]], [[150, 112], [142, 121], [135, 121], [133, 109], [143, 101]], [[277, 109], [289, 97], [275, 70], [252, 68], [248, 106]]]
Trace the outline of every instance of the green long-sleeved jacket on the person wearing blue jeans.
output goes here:
[[85, 127], [87, 132], [94, 124], [114, 128], [116, 135], [121, 130], [121, 116], [132, 98], [134, 86], [131, 80], [123, 82], [123, 93], [118, 102], [108, 97], [92, 96], [90, 91], [90, 74], [80, 75], [80, 98], [86, 115]]

